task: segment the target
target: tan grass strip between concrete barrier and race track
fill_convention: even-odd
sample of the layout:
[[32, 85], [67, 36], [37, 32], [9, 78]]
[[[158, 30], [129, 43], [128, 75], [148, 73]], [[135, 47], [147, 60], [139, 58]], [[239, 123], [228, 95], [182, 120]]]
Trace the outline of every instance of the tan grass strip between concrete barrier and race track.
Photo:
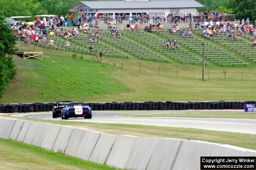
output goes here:
[[[3, 115], [3, 117], [17, 118], [10, 115]], [[105, 132], [108, 134], [125, 134], [142, 137], [155, 138], [177, 138], [187, 140], [199, 140], [220, 144], [229, 144], [238, 147], [256, 150], [256, 135], [242, 134], [225, 131], [211, 131], [194, 128], [173, 128], [163, 126], [150, 125], [132, 125], [120, 123], [90, 123], [90, 122], [75, 122], [75, 121], [52, 121], [52, 120], [38, 120], [31, 118], [19, 118], [25, 120], [33, 120], [36, 122], [48, 122], [59, 125], [68, 125], [79, 128], [93, 129], [96, 131]]]

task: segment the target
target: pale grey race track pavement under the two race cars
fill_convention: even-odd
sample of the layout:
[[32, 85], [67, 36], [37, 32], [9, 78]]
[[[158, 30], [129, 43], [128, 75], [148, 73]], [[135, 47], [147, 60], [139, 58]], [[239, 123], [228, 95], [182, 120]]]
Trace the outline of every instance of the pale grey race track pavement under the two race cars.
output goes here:
[[34, 119], [62, 120], [62, 121], [79, 121], [95, 123], [123, 123], [138, 125], [155, 125], [179, 128], [197, 128], [214, 131], [238, 132], [246, 134], [256, 134], [256, 119], [223, 119], [223, 118], [178, 118], [178, 117], [125, 117], [116, 116], [117, 114], [139, 114], [139, 113], [200, 113], [200, 112], [225, 112], [241, 113], [239, 111], [198, 111], [198, 110], [143, 110], [143, 111], [93, 111], [92, 119], [70, 118], [62, 120], [61, 118], [53, 119], [52, 113], [23, 113], [13, 116], [27, 117]]

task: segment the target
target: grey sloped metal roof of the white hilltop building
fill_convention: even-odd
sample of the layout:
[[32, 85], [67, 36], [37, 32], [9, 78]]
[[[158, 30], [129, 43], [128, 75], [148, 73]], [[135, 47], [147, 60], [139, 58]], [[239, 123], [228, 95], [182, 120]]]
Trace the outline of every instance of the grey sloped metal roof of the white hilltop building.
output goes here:
[[171, 1], [81, 1], [69, 11], [78, 11], [86, 5], [90, 9], [149, 9], [149, 8], [204, 8], [194, 0]]

